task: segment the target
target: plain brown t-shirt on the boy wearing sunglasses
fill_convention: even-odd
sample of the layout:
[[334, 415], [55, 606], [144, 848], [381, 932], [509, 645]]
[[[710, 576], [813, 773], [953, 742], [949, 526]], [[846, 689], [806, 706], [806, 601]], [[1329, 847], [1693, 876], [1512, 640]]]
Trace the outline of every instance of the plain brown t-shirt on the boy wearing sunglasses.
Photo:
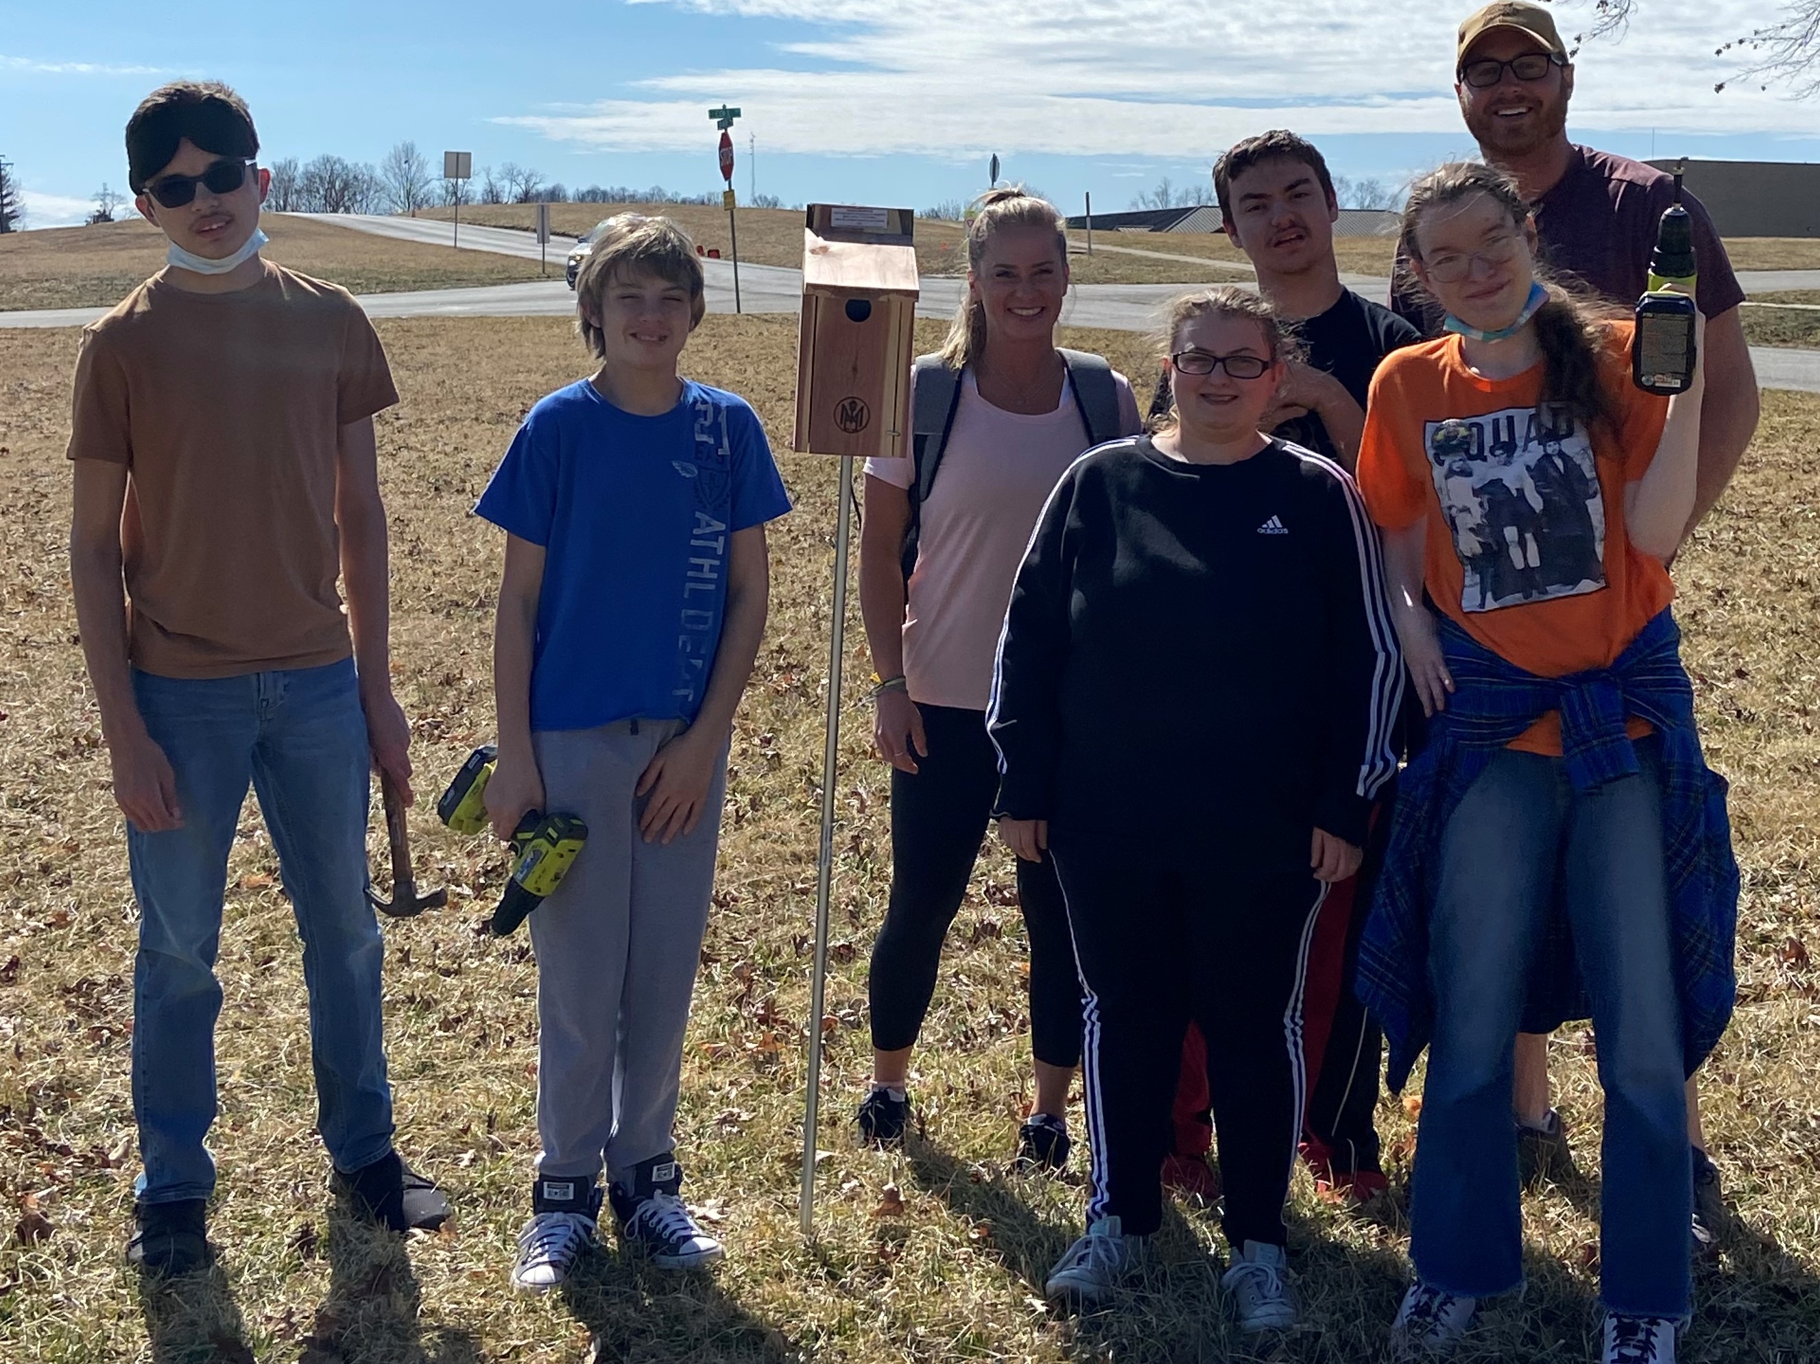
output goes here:
[[271, 262], [233, 293], [155, 275], [84, 329], [69, 458], [131, 471], [136, 667], [235, 677], [349, 655], [337, 438], [397, 400], [353, 296]]

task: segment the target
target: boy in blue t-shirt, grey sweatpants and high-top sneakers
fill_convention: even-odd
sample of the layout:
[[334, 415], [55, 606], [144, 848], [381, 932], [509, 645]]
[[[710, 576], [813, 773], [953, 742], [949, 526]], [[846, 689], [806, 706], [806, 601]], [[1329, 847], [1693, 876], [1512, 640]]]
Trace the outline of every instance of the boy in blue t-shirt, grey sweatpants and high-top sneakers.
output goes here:
[[493, 640], [493, 829], [530, 809], [588, 824], [531, 915], [537, 1131], [515, 1288], [561, 1284], [593, 1244], [606, 1166], [628, 1246], [666, 1269], [721, 1244], [679, 1197], [682, 1031], [733, 711], [764, 635], [764, 522], [790, 509], [759, 418], [677, 376], [701, 264], [668, 218], [615, 218], [575, 282], [601, 360], [519, 427], [475, 511], [506, 531]]

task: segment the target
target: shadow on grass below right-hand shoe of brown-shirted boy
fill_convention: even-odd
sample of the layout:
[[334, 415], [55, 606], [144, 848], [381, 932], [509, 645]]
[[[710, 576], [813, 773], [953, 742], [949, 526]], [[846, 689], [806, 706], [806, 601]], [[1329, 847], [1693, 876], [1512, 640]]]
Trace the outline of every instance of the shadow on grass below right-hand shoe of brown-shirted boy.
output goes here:
[[355, 1217], [342, 1199], [328, 1226], [329, 1293], [298, 1364], [480, 1364], [471, 1333], [420, 1320], [424, 1293], [404, 1237]]

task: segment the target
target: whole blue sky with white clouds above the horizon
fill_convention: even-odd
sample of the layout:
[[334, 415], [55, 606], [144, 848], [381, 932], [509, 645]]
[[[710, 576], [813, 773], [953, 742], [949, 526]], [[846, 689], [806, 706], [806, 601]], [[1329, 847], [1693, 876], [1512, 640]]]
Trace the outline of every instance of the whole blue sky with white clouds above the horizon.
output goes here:
[[[1647, 24], [1580, 55], [1571, 131], [1613, 151], [1820, 160], [1815, 104], [1724, 93], [1722, 42], [1756, 0], [1640, 0]], [[710, 104], [744, 109], [741, 196], [926, 207], [985, 186], [986, 156], [1068, 211], [1096, 211], [1265, 127], [1336, 171], [1401, 180], [1465, 155], [1449, 89], [1469, 9], [1432, 0], [595, 0], [173, 9], [7, 0], [0, 156], [27, 224], [120, 189], [120, 133], [160, 80], [217, 76], [253, 105], [266, 158], [379, 160], [404, 138], [550, 180], [719, 189]], [[1592, 0], [1556, 5], [1563, 33]], [[530, 22], [521, 18], [533, 15]], [[186, 18], [187, 16], [187, 18]], [[755, 165], [748, 138], [757, 140]]]

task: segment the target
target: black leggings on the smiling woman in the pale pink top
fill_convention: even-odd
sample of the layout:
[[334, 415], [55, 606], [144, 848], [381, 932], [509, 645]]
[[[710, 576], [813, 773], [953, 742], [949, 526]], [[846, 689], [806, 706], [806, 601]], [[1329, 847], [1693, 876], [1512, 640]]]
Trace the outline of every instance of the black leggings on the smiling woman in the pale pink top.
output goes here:
[[[872, 944], [872, 1046], [914, 1046], [935, 995], [941, 942], [961, 909], [999, 789], [985, 711], [923, 706], [928, 757], [892, 771], [892, 900]], [[1030, 940], [1030, 1049], [1050, 1066], [1081, 1060], [1081, 982], [1052, 860], [1017, 862]]]

